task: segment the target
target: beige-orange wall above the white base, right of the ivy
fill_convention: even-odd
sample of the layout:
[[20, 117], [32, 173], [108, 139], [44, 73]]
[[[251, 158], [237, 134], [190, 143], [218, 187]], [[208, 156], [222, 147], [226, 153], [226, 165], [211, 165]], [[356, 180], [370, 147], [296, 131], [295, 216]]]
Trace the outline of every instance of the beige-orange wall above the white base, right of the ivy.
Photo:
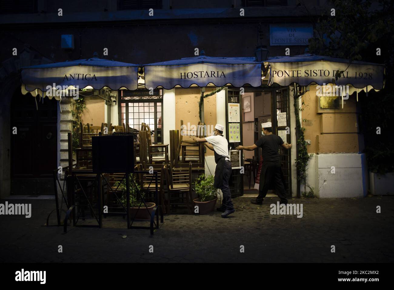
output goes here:
[[316, 86], [302, 97], [305, 103], [302, 126], [306, 128], [305, 140], [311, 140], [308, 153], [358, 153], [362, 150], [362, 135], [358, 132], [356, 95], [340, 103], [340, 109], [319, 108]]

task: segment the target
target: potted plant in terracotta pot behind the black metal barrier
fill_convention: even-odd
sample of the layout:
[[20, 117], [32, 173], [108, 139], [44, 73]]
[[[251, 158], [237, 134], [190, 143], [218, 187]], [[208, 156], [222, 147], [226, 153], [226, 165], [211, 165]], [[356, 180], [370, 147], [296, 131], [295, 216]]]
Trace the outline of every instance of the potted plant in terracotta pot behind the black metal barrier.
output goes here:
[[[140, 196], [138, 195], [137, 189], [139, 193], [141, 194], [141, 197], [145, 197], [145, 193], [141, 191], [141, 187], [138, 185], [136, 182], [135, 176], [133, 174], [130, 174], [128, 178], [129, 182], [129, 192], [130, 192], [130, 208], [129, 208], [129, 214], [132, 219], [151, 219], [151, 213], [153, 211], [153, 208], [156, 206], [154, 202], [145, 202], [146, 208], [142, 200], [140, 199]], [[134, 181], [134, 184], [132, 184], [132, 180]], [[115, 186], [118, 186], [119, 190], [123, 190], [123, 194], [119, 200], [123, 204], [123, 206], [127, 206], [127, 195], [126, 195], [126, 179], [123, 179], [123, 181], [116, 181]], [[139, 209], [138, 209], [139, 208]], [[148, 209], [148, 210], [147, 210]]]

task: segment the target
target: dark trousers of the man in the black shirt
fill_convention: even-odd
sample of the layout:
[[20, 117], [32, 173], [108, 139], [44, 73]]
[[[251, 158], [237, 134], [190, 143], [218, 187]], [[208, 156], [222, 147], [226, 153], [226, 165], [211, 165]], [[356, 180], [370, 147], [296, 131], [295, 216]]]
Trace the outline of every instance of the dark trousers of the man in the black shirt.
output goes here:
[[[265, 164], [264, 164], [265, 163]], [[271, 184], [275, 185], [275, 193], [281, 199], [281, 203], [287, 204], [286, 191], [283, 184], [281, 163], [264, 162], [260, 173], [260, 186], [258, 187], [257, 202], [262, 202], [266, 197]], [[265, 168], [264, 168], [265, 167]], [[265, 170], [263, 170], [265, 169]], [[262, 176], [264, 174], [264, 176]]]

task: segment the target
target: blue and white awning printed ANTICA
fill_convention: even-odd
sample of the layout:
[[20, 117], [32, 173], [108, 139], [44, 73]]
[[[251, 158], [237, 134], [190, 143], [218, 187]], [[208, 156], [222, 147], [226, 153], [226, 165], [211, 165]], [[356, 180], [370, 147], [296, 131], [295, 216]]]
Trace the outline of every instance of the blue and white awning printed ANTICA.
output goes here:
[[60, 97], [47, 92], [64, 91], [67, 87], [79, 89], [89, 87], [95, 90], [100, 90], [103, 87], [112, 90], [120, 88], [136, 90], [138, 87], [138, 67], [137, 64], [100, 58], [24, 67], [22, 70], [22, 93], [30, 92], [33, 96], [39, 94], [60, 99]]

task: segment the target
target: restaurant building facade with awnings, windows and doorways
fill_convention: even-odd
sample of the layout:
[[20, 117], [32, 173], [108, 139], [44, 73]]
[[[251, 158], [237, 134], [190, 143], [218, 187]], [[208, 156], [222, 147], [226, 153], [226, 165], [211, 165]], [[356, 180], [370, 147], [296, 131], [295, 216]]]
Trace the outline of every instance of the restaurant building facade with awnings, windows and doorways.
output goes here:
[[[1, 16], [8, 37], [16, 31], [19, 35], [2, 48], [6, 53], [2, 53], [1, 69], [1, 197], [53, 194], [52, 170], [69, 164], [67, 134], [72, 132], [75, 101], [57, 97], [56, 92], [43, 97], [46, 85], [52, 82], [37, 71], [78, 68], [69, 65], [75, 59], [128, 64], [103, 65], [104, 86], [94, 85], [102, 81], [99, 74], [67, 71], [57, 75], [62, 80], [56, 84], [75, 85], [76, 79], [88, 82], [89, 90], [81, 92], [86, 103], [84, 123], [128, 123], [140, 129], [144, 122], [154, 131], [153, 142], [164, 144], [171, 142], [170, 130], [182, 129], [181, 120], [188, 131], [199, 121], [208, 127], [220, 123], [234, 149], [260, 138], [265, 122], [272, 122], [285, 142], [296, 144], [298, 114], [305, 127], [307, 151], [313, 153], [307, 183], [315, 195], [366, 196], [368, 169], [357, 99], [383, 88], [384, 67], [352, 64], [336, 86], [331, 86], [335, 71], [348, 64], [305, 51], [305, 39], [312, 36], [314, 26], [305, 16], [311, 12], [320, 15], [326, 8], [317, 6], [318, 1], [316, 7], [310, 1], [312, 11], [292, 1], [262, 1], [260, 6], [248, 1], [203, 1], [196, 7], [185, 7], [182, 1], [158, 1], [153, 16], [145, 6], [134, 9], [122, 1], [101, 2], [95, 7], [107, 11], [92, 11], [93, 6], [82, 4], [86, 5], [83, 15], [64, 6], [62, 17], [74, 13], [70, 21], [59, 19], [57, 6], [49, 1], [37, 2], [45, 7], [45, 15], [36, 12], [29, 19], [22, 14]], [[271, 6], [273, 2], [277, 6]], [[128, 9], [123, 10], [125, 7]], [[100, 21], [93, 22], [95, 19]], [[48, 22], [54, 28], [41, 31]], [[45, 43], [35, 41], [39, 33], [45, 35]], [[65, 60], [68, 64], [63, 64]], [[62, 65], [56, 65], [59, 62]], [[116, 71], [108, 67], [127, 67], [132, 80], [114, 84]], [[40, 77], [46, 82], [40, 82]], [[329, 91], [330, 87], [338, 92]], [[82, 88], [86, 86], [81, 84]], [[201, 95], [211, 92], [216, 93], [204, 98], [200, 117]], [[14, 128], [17, 134], [13, 134]], [[244, 159], [259, 159], [261, 152], [243, 154], [242, 166]], [[204, 157], [205, 173], [210, 174], [215, 170], [214, 156], [208, 151]], [[294, 197], [305, 190], [297, 182], [296, 158], [296, 146], [281, 152], [287, 190]], [[233, 169], [234, 196], [243, 194], [243, 182], [247, 182], [241, 169]]]

